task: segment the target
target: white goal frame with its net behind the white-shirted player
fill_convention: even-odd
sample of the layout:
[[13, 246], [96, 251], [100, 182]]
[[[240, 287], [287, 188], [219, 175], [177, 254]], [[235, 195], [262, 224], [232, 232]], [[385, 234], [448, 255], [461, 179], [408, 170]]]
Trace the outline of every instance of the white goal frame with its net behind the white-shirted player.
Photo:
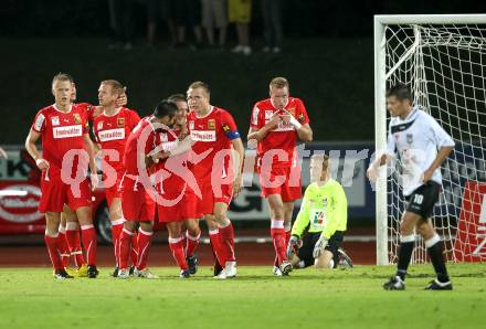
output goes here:
[[[384, 91], [405, 83], [414, 105], [431, 114], [456, 142], [455, 151], [441, 168], [443, 190], [433, 215], [445, 256], [450, 262], [475, 261], [471, 255], [476, 252], [476, 261], [486, 259], [482, 258], [480, 246], [486, 240], [486, 222], [483, 225], [480, 217], [484, 193], [478, 191], [486, 181], [486, 15], [394, 18], [395, 23], [393, 17], [388, 17], [387, 22], [376, 26], [374, 38], [380, 38], [376, 40], [376, 52], [380, 52], [376, 53], [377, 112], [384, 113], [377, 115], [377, 149], [384, 148], [383, 129], [388, 129], [390, 119]], [[394, 169], [389, 168], [381, 195], [377, 193], [381, 198], [381, 202], [377, 199], [377, 221], [381, 221], [377, 223], [379, 264], [395, 263], [400, 244], [405, 201], [400, 169]], [[477, 192], [477, 198], [471, 197], [468, 189]], [[427, 262], [419, 235], [412, 262]]]

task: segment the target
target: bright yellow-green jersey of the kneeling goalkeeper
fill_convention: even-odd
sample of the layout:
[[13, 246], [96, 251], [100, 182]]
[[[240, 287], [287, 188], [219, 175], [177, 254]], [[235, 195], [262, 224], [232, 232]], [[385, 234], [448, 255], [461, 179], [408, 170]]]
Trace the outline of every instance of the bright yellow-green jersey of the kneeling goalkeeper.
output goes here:
[[329, 240], [336, 231], [346, 231], [347, 222], [345, 190], [340, 183], [329, 179], [324, 185], [311, 183], [307, 187], [292, 234], [302, 236], [308, 226], [308, 232], [323, 232], [324, 237]]

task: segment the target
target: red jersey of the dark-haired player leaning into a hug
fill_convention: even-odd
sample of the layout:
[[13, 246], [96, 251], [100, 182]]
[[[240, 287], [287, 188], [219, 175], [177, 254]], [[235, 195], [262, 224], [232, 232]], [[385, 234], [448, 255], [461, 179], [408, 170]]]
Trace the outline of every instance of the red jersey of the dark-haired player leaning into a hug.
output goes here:
[[[141, 168], [145, 168], [145, 157], [157, 146], [157, 136], [154, 126], [150, 123], [150, 118], [151, 117], [142, 118], [126, 141], [123, 163], [126, 173], [128, 174], [138, 176], [138, 164], [144, 166]], [[140, 141], [141, 149], [137, 150], [140, 138], [144, 138], [145, 140]]]

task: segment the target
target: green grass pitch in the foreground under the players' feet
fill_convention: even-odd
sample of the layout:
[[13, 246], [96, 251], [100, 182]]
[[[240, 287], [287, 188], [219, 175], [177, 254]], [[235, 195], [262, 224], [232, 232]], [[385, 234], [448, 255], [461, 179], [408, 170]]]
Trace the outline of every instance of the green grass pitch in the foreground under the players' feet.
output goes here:
[[486, 328], [486, 264], [451, 264], [453, 291], [425, 291], [430, 265], [411, 266], [405, 291], [384, 291], [392, 266], [295, 270], [241, 266], [214, 280], [209, 267], [179, 279], [54, 280], [47, 268], [0, 268], [0, 328]]

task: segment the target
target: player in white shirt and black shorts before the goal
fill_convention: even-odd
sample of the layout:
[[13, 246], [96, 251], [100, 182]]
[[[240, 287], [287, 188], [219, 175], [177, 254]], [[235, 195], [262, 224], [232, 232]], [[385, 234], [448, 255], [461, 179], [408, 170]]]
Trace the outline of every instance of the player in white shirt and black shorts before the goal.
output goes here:
[[431, 215], [442, 188], [440, 166], [454, 149], [451, 136], [437, 121], [412, 105], [412, 94], [398, 84], [387, 92], [387, 106], [392, 116], [384, 155], [370, 164], [367, 176], [373, 181], [378, 168], [397, 160], [402, 169], [406, 209], [400, 223], [400, 251], [397, 275], [383, 285], [388, 290], [405, 288], [405, 274], [415, 242], [414, 229], [423, 236], [437, 277], [425, 289], [450, 290], [447, 269], [442, 256], [442, 243], [432, 225]]

